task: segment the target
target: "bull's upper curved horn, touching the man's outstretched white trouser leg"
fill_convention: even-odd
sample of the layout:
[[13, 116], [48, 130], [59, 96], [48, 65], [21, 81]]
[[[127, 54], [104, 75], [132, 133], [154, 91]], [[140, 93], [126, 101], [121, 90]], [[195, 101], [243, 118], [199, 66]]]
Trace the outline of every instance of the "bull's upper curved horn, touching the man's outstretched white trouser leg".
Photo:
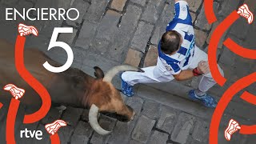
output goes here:
[[111, 82], [114, 78], [115, 74], [118, 74], [120, 71], [138, 71], [138, 72], [144, 72], [142, 69], [135, 67], [135, 66], [114, 66], [111, 70], [109, 70], [105, 77], [103, 78], [104, 82]]

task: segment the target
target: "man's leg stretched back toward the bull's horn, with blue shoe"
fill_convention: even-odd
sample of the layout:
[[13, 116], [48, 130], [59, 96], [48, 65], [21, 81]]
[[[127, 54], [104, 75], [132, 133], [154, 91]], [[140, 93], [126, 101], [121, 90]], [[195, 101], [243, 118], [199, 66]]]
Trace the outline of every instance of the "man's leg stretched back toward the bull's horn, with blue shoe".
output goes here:
[[133, 86], [137, 83], [170, 82], [174, 79], [171, 74], [164, 74], [158, 66], [142, 68], [144, 73], [126, 71], [121, 75], [122, 93], [133, 96]]

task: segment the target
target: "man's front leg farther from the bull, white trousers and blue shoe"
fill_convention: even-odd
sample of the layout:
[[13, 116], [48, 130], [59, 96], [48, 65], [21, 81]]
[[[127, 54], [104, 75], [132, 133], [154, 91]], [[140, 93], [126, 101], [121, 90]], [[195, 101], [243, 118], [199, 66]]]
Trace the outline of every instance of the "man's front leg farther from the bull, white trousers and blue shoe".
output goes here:
[[[190, 69], [194, 69], [198, 66], [198, 63], [201, 61], [208, 62], [208, 55], [200, 50], [198, 46], [195, 46], [194, 51], [194, 58], [192, 59], [192, 62], [190, 63]], [[224, 75], [223, 70], [218, 66], [218, 69], [220, 70], [221, 74]], [[203, 104], [207, 107], [216, 107], [217, 102], [214, 97], [206, 94], [206, 91], [209, 90], [212, 86], [214, 86], [216, 82], [214, 81], [214, 78], [212, 75], [209, 74], [203, 74], [202, 78], [198, 85], [198, 90], [190, 90], [190, 98], [192, 99], [199, 99], [203, 102]]]

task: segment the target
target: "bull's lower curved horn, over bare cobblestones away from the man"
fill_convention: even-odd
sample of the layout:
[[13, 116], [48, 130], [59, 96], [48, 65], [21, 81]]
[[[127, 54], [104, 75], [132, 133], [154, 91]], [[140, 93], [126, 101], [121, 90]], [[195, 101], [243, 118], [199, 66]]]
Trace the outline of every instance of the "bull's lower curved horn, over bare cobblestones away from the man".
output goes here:
[[99, 126], [97, 115], [98, 115], [98, 107], [93, 104], [92, 106], [90, 106], [90, 110], [89, 110], [89, 122], [90, 122], [90, 126], [91, 126], [98, 134], [101, 134], [101, 135], [110, 134], [111, 131], [104, 130], [104, 129], [102, 129], [101, 126]]

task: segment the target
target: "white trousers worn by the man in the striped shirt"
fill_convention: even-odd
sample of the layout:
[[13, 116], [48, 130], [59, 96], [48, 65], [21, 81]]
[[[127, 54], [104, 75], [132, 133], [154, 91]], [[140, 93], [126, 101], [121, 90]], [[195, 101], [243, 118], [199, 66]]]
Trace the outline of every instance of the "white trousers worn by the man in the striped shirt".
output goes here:
[[[191, 62], [189, 62], [188, 66], [186, 66], [186, 69], [194, 69], [198, 66], [198, 62], [206, 61], [208, 62], [208, 55], [200, 50], [198, 46], [195, 46], [194, 48], [194, 57], [191, 59]], [[152, 82], [170, 82], [174, 79], [174, 76], [166, 71], [162, 71], [159, 66], [159, 61], [161, 61], [158, 58], [158, 64], [157, 66], [150, 66], [142, 68], [144, 70], [144, 73], [140, 72], [134, 72], [134, 71], [126, 71], [122, 74], [122, 79], [130, 84], [131, 86], [134, 86], [134, 84], [137, 83], [152, 83]], [[218, 66], [218, 69], [220, 70], [221, 74], [224, 76], [223, 70]], [[209, 90], [212, 86], [214, 86], [216, 82], [214, 81], [214, 78], [212, 78], [211, 74], [203, 74], [202, 78], [200, 80], [198, 90], [201, 90], [202, 92], [206, 92]]]

